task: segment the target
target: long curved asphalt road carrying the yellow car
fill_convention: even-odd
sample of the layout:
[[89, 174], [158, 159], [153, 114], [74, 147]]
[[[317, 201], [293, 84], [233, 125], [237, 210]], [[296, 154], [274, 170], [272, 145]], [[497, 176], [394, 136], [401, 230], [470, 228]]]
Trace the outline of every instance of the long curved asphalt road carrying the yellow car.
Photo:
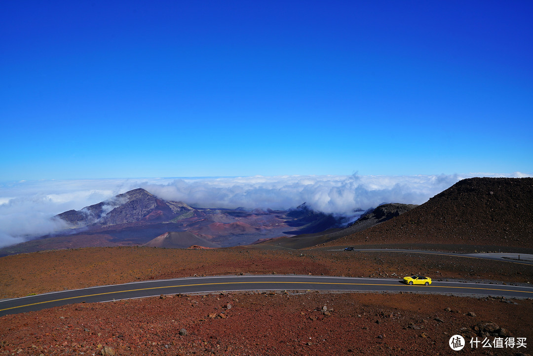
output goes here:
[[93, 303], [157, 296], [229, 292], [235, 290], [344, 290], [387, 292], [431, 292], [479, 296], [533, 297], [532, 287], [433, 282], [430, 286], [408, 286], [399, 279], [316, 276], [222, 276], [133, 282], [121, 285], [64, 290], [0, 301], [0, 316], [71, 303]]

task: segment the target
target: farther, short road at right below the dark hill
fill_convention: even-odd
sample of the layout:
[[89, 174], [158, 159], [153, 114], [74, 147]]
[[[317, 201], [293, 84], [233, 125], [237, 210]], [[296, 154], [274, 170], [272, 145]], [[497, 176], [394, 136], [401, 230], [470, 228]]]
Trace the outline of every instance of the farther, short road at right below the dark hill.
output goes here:
[[[344, 249], [334, 249], [328, 251], [344, 251]], [[346, 251], [350, 253], [351, 251]], [[417, 254], [428, 255], [444, 255], [444, 256], [456, 256], [465, 258], [481, 258], [482, 260], [494, 260], [518, 264], [526, 264], [533, 266], [533, 255], [518, 254], [518, 253], [455, 253], [455, 252], [442, 252], [442, 251], [423, 251], [423, 250], [408, 250], [408, 249], [395, 249], [395, 248], [360, 248], [353, 249], [353, 252], [408, 252]], [[520, 256], [520, 257], [519, 257]], [[520, 258], [520, 260], [518, 260]]]

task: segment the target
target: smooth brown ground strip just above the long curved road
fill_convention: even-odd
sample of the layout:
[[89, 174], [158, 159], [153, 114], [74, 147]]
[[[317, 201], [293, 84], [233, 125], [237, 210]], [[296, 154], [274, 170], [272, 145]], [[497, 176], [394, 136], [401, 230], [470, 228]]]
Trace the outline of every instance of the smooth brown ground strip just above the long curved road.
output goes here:
[[533, 283], [531, 266], [417, 253], [99, 247], [0, 258], [0, 298], [195, 274], [274, 272], [376, 278], [419, 273], [434, 280]]

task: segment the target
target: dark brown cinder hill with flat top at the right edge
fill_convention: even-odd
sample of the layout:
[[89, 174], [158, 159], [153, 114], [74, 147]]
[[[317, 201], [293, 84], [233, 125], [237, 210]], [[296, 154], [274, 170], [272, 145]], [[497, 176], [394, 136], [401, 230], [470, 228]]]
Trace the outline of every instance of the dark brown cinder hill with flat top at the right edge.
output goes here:
[[533, 178], [471, 178], [426, 203], [329, 245], [533, 247]]

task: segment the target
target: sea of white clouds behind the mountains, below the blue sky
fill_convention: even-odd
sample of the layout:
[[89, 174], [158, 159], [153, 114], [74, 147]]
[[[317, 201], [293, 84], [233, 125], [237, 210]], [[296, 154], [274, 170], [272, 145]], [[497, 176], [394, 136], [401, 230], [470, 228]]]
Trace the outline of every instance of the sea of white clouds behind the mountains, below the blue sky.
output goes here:
[[526, 177], [529, 174], [411, 176], [253, 176], [181, 179], [45, 180], [0, 183], [0, 247], [68, 226], [54, 215], [100, 203], [144, 188], [165, 200], [193, 207], [288, 209], [302, 203], [316, 211], [356, 219], [383, 203], [423, 204], [457, 181], [473, 176]]

